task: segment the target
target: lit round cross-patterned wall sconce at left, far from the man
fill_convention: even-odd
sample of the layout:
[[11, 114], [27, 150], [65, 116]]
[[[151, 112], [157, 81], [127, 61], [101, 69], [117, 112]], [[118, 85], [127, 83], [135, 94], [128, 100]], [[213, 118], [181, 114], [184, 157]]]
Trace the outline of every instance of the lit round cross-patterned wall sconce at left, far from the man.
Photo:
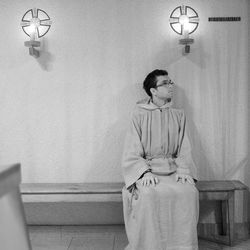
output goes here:
[[25, 41], [24, 45], [29, 48], [29, 54], [34, 57], [39, 57], [40, 41], [36, 39], [43, 37], [50, 29], [51, 20], [49, 15], [41, 9], [29, 9], [23, 15], [21, 26], [24, 33], [30, 37], [30, 41]]

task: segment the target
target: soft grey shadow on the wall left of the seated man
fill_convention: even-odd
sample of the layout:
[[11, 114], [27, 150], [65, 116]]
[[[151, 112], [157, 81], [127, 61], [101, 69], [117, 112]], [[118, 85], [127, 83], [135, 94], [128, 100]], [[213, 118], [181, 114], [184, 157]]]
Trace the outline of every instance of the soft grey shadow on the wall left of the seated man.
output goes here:
[[[99, 176], [98, 181], [103, 181], [103, 176], [100, 173], [104, 173], [106, 176], [106, 170], [100, 170], [103, 168], [103, 162], [106, 166], [110, 167], [113, 176], [110, 179], [104, 180], [106, 182], [120, 182], [123, 181], [122, 169], [121, 169], [121, 159], [123, 154], [123, 147], [125, 136], [131, 121], [131, 113], [136, 102], [140, 99], [145, 98], [143, 90], [141, 88], [142, 83], [136, 83], [134, 85], [128, 85], [123, 88], [118, 95], [109, 97], [109, 101], [114, 103], [114, 109], [117, 110], [115, 122], [111, 124], [105, 131], [105, 136], [99, 145], [97, 145], [97, 150], [92, 157], [91, 168], [87, 173], [88, 176]], [[141, 90], [139, 90], [141, 88]], [[98, 121], [98, 116], [96, 123]], [[114, 181], [114, 176], [118, 179]], [[97, 182], [98, 182], [97, 181]]]

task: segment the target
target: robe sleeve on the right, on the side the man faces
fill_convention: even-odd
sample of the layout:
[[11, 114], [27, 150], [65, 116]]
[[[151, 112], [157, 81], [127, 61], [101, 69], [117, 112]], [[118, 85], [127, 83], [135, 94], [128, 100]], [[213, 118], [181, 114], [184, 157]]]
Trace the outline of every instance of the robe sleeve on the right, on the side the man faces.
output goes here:
[[179, 133], [178, 154], [175, 159], [177, 174], [189, 174], [197, 180], [197, 170], [192, 158], [191, 144], [186, 131], [186, 116], [182, 112]]

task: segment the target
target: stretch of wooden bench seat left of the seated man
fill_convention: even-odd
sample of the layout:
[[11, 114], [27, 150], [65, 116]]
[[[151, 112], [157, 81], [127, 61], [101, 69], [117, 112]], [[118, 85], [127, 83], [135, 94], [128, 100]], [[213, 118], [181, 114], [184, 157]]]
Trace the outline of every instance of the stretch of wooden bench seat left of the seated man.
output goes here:
[[123, 183], [25, 183], [23, 202], [121, 202]]

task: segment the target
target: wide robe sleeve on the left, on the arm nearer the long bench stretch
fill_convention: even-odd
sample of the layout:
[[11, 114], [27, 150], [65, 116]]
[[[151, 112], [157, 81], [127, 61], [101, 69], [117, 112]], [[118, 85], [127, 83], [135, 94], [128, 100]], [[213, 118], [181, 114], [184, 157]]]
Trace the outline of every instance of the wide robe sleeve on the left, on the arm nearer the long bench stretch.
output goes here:
[[139, 115], [134, 112], [125, 139], [122, 157], [122, 171], [127, 188], [133, 185], [145, 171], [150, 169], [147, 161], [144, 159], [139, 118]]

